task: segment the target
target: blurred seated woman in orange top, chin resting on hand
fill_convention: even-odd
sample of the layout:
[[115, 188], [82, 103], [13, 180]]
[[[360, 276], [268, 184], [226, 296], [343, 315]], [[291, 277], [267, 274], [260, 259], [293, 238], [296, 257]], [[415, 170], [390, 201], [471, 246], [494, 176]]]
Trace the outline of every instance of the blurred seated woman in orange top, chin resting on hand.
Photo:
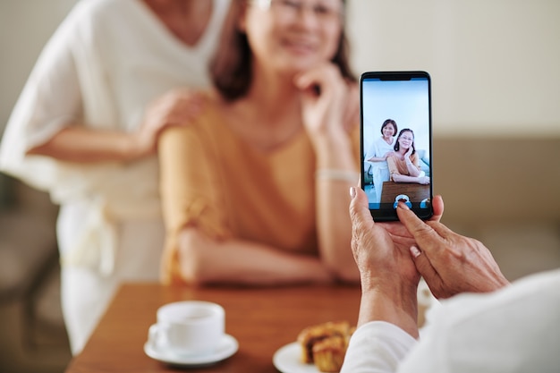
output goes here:
[[233, 2], [211, 74], [199, 116], [158, 143], [164, 282], [358, 281], [344, 2]]

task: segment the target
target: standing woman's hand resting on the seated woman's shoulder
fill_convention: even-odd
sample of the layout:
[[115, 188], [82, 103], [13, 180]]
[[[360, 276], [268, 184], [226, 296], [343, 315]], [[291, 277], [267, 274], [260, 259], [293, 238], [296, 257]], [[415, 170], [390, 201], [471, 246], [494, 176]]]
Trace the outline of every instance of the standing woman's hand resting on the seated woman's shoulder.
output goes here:
[[202, 100], [198, 92], [175, 89], [153, 101], [146, 109], [140, 131], [135, 134], [138, 153], [154, 153], [161, 131], [169, 126], [190, 123], [199, 114]]

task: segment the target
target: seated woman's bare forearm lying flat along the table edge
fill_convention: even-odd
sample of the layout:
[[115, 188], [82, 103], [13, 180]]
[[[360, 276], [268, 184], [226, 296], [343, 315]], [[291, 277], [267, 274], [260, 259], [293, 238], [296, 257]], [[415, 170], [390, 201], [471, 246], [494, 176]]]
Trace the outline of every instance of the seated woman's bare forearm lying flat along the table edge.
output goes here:
[[179, 267], [189, 284], [277, 285], [329, 283], [318, 258], [238, 239], [210, 239], [196, 227], [179, 236]]

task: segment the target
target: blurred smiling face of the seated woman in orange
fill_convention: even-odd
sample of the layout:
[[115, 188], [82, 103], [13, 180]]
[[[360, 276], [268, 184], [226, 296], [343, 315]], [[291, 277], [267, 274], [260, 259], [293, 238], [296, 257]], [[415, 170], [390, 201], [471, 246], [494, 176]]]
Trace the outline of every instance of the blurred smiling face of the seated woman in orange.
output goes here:
[[240, 27], [255, 66], [297, 73], [331, 60], [343, 28], [342, 0], [250, 1]]

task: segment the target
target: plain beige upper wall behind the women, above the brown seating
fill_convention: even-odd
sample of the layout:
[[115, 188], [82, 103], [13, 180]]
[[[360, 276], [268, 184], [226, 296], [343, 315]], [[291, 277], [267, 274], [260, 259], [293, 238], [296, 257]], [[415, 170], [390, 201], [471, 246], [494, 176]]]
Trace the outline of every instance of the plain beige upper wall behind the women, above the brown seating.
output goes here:
[[[0, 131], [76, 0], [0, 0]], [[560, 1], [348, 0], [354, 70], [426, 70], [436, 135], [560, 136]]]

